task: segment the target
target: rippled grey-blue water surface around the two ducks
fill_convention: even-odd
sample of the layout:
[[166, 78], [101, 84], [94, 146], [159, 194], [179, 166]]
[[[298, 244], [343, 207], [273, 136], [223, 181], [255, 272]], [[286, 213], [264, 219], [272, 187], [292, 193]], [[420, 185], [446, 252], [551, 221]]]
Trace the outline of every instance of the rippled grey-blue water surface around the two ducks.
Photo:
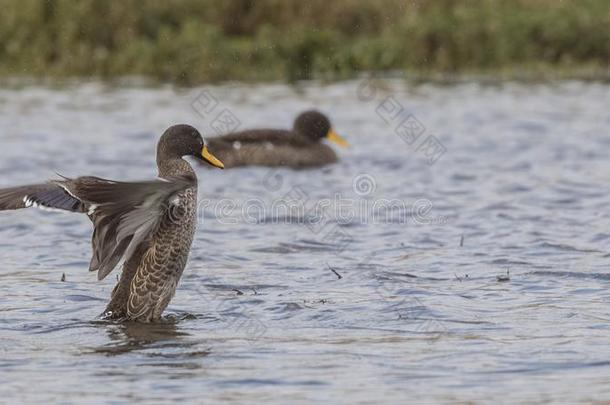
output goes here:
[[[319, 170], [199, 169], [202, 223], [157, 325], [97, 319], [116, 272], [87, 272], [86, 218], [0, 214], [2, 401], [610, 398], [609, 86], [228, 85], [206, 89], [210, 116], [202, 90], [0, 90], [1, 187], [151, 178], [168, 125], [209, 134], [224, 109], [286, 127], [316, 106], [352, 144]], [[401, 106], [425, 127], [411, 146]], [[288, 197], [308, 213], [272, 211]]]

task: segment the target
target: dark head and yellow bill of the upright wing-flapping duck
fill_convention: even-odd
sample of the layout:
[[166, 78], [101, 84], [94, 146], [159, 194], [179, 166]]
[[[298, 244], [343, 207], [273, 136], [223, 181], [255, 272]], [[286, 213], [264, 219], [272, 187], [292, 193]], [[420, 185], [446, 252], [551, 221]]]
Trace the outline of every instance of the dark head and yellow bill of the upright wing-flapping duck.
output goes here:
[[195, 156], [214, 167], [224, 169], [224, 164], [208, 151], [205, 140], [190, 125], [173, 125], [165, 130], [157, 144], [157, 162]]

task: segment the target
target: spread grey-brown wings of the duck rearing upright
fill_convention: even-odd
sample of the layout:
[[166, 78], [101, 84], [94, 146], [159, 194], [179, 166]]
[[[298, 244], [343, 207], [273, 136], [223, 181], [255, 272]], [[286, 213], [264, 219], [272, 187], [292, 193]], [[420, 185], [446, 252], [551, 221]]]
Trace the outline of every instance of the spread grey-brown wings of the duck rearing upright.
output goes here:
[[89, 270], [101, 280], [171, 215], [175, 194], [195, 186], [194, 179], [182, 177], [130, 183], [66, 178], [0, 190], [0, 211], [40, 207], [86, 213], [95, 228]]

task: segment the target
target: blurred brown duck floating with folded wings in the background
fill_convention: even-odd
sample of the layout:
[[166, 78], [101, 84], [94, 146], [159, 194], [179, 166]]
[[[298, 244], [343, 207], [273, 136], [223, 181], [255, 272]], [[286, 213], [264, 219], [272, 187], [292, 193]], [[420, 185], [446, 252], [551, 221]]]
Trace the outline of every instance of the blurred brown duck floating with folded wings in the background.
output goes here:
[[347, 141], [332, 128], [326, 115], [309, 110], [299, 114], [291, 130], [250, 129], [208, 140], [210, 152], [226, 168], [286, 166], [295, 169], [321, 167], [338, 162], [337, 154], [322, 140], [341, 147]]

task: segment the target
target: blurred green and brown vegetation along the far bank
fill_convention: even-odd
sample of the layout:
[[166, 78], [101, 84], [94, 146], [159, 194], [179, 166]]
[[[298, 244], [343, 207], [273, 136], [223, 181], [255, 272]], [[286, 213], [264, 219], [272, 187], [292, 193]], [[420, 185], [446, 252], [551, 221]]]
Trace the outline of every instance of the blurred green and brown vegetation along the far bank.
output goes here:
[[4, 0], [0, 74], [181, 84], [607, 74], [609, 0]]

